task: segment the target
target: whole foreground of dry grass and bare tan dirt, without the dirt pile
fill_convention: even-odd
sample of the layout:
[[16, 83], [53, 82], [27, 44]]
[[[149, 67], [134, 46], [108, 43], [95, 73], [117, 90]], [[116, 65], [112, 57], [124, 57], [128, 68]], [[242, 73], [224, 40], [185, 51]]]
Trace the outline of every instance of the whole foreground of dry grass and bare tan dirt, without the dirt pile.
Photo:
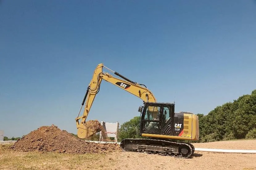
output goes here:
[[[256, 140], [195, 143], [196, 148], [256, 150]], [[256, 154], [195, 152], [190, 159], [134, 152], [56, 153], [20, 152], [0, 145], [0, 169], [256, 169]]]

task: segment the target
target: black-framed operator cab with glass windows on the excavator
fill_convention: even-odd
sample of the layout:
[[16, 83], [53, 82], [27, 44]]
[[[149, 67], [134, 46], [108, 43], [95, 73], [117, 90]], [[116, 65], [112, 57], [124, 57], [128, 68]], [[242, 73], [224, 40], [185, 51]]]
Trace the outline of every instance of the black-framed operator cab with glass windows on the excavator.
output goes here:
[[[174, 135], [174, 106], [173, 103], [144, 102], [138, 109], [141, 112], [140, 134]], [[179, 124], [182, 129], [183, 123]]]

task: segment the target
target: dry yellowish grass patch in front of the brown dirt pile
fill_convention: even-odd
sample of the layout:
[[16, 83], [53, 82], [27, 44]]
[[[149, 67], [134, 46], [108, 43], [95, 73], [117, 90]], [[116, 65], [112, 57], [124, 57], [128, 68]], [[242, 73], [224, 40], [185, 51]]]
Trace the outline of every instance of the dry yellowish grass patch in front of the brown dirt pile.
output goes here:
[[114, 164], [106, 154], [68, 154], [56, 152], [14, 152], [12, 144], [0, 144], [0, 169], [105, 169]]

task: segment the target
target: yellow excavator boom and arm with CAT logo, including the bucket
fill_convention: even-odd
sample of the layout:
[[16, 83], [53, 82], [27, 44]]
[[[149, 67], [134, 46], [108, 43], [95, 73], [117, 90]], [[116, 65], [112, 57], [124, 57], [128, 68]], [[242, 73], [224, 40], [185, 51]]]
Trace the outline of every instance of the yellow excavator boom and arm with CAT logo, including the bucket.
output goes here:
[[[121, 77], [122, 79], [113, 77], [111, 74], [103, 72], [102, 71], [103, 68], [109, 70], [110, 72]], [[105, 67], [101, 63], [94, 70], [93, 78], [92, 78], [92, 80], [87, 88], [87, 91], [85, 93], [85, 97], [82, 101], [82, 105], [81, 105], [80, 111], [78, 113], [78, 116], [75, 119], [76, 120], [76, 128], [77, 128], [77, 136], [79, 138], [86, 138], [95, 133], [92, 129], [90, 129], [89, 127], [85, 127], [83, 124], [85, 123], [85, 120], [89, 114], [89, 111], [91, 109], [91, 106], [93, 104], [95, 96], [100, 90], [100, 85], [101, 85], [102, 79], [139, 97], [140, 99], [142, 99], [142, 101], [156, 102], [156, 99], [155, 99], [153, 93], [151, 93], [151, 91], [148, 90], [145, 85], [144, 85], [145, 87], [143, 87], [142, 84], [138, 84], [137, 82], [129, 80], [128, 78], [122, 76], [121, 74], [114, 72], [111, 69]], [[86, 102], [85, 102], [85, 100], [86, 100]], [[85, 103], [84, 113], [81, 117], [79, 117], [84, 103]], [[81, 122], [79, 122], [79, 121], [81, 121]]]

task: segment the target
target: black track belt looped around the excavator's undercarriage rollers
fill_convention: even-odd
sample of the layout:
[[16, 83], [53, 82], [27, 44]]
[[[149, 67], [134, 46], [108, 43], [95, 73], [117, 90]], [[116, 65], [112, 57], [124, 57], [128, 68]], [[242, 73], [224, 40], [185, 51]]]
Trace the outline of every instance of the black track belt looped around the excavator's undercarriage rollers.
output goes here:
[[[188, 148], [190, 148], [190, 153], [186, 156], [183, 156], [181, 153], [179, 153], [178, 155], [176, 155], [175, 153], [168, 153], [166, 154], [167, 156], [172, 156], [172, 157], [175, 157], [175, 158], [189, 158], [195, 151], [195, 147], [191, 144], [191, 143], [181, 143], [181, 142], [173, 142], [173, 141], [167, 141], [167, 140], [155, 140], [155, 139], [123, 139], [121, 141], [121, 144], [120, 144], [120, 148], [123, 150], [123, 151], [126, 151], [125, 150], [125, 141], [126, 140], [129, 140], [129, 141], [133, 141], [133, 144], [134, 144], [134, 141], [135, 140], [150, 140], [150, 141], [157, 141], [157, 142], [163, 142], [163, 143], [168, 143], [169, 144], [169, 147], [171, 146], [177, 146], [177, 145], [186, 145]], [[123, 146], [124, 148], [122, 148], [121, 146]], [[161, 145], [159, 145], [160, 147], [162, 147]], [[142, 151], [129, 151], [129, 152], [142, 152]], [[143, 150], [143, 152], [145, 152], [145, 150]], [[145, 152], [147, 153], [147, 152]], [[152, 152], [151, 152], [152, 153]], [[153, 152], [154, 153], [154, 152]], [[155, 154], [158, 154], [158, 153], [155, 153]]]

